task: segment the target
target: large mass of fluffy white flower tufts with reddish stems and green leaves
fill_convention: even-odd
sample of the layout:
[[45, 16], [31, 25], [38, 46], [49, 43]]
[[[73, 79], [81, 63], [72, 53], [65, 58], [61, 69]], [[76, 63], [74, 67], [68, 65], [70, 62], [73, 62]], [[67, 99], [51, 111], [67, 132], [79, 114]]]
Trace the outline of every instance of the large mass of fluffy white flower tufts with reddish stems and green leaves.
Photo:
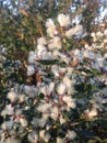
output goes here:
[[[97, 43], [73, 48], [73, 37], [83, 37], [84, 29], [71, 26], [66, 14], [46, 21], [47, 36], [29, 52], [27, 84], [7, 95], [0, 114], [1, 143], [21, 143], [24, 136], [31, 143], [79, 141], [80, 121], [98, 119], [107, 111], [106, 54], [93, 50]], [[92, 33], [100, 41], [107, 31], [96, 35]]]

